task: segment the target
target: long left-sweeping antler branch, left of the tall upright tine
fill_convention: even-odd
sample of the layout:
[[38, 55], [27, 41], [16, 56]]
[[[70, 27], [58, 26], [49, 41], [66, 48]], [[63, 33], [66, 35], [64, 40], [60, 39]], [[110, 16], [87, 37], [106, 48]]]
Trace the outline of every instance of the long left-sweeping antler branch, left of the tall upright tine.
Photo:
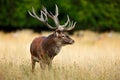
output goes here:
[[[30, 11], [28, 11], [28, 13], [30, 14], [30, 16], [38, 19], [39, 21], [43, 22], [44, 24], [46, 24], [49, 28], [51, 29], [56, 29], [56, 27], [52, 27], [51, 25], [48, 24], [48, 18], [47, 18], [47, 15], [46, 13], [44, 13], [42, 10], [41, 10], [41, 15], [40, 17], [37, 16], [37, 14], [35, 13], [35, 10], [34, 8], [32, 7], [32, 13]], [[44, 16], [43, 16], [44, 15]], [[45, 17], [45, 18], [44, 18]]]

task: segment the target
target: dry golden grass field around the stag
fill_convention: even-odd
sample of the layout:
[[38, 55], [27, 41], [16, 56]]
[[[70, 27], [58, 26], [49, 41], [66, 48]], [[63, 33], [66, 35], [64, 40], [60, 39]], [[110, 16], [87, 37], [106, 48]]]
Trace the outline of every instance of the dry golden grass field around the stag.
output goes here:
[[0, 80], [120, 80], [120, 33], [116, 32], [76, 32], [75, 43], [62, 48], [51, 70], [40, 70], [37, 64], [31, 73], [30, 43], [49, 33], [0, 32]]

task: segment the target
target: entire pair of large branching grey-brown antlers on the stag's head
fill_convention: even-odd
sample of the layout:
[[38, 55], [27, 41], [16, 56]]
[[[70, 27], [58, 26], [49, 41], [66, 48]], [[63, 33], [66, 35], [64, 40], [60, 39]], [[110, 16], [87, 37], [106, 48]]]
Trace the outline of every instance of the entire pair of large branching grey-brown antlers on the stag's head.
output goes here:
[[[33, 7], [32, 7], [32, 13], [30, 11], [28, 11], [28, 13], [32, 17], [34, 17], [34, 18], [38, 19], [39, 21], [43, 22], [44, 24], [46, 24], [51, 29], [59, 29], [59, 30], [66, 30], [66, 31], [72, 30], [75, 27], [76, 22], [74, 22], [74, 23], [73, 23], [73, 21], [70, 22], [69, 16], [67, 15], [66, 23], [64, 25], [60, 25], [59, 24], [59, 19], [58, 19], [58, 15], [59, 15], [58, 7], [57, 7], [57, 5], [55, 5], [55, 7], [56, 7], [55, 15], [53, 15], [52, 12], [48, 12], [45, 7], [43, 7], [43, 9], [41, 10], [41, 16], [40, 17], [38, 17], [36, 15]], [[47, 16], [55, 22], [56, 27], [52, 27], [51, 25], [48, 24]]]

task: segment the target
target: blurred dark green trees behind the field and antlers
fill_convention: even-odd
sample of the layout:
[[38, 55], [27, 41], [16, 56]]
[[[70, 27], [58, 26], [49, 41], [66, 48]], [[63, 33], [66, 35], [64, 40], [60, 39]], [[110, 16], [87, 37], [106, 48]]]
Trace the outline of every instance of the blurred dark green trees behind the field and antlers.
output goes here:
[[59, 7], [61, 24], [66, 21], [67, 14], [77, 22], [73, 31], [89, 29], [120, 32], [120, 0], [0, 0], [0, 29], [49, 30], [32, 18], [27, 10], [31, 11], [33, 6], [39, 14], [44, 5], [54, 12], [55, 4]]

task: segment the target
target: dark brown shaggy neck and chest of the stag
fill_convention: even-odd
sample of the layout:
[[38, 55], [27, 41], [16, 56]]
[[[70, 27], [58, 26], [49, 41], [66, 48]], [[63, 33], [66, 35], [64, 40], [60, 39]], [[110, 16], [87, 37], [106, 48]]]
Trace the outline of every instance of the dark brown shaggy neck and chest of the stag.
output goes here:
[[60, 50], [61, 50], [61, 43], [58, 42], [55, 39], [54, 34], [51, 34], [50, 36], [48, 36], [44, 41], [43, 41], [43, 49], [45, 50], [45, 53], [48, 54], [48, 56], [50, 57], [54, 57], [55, 55], [57, 55]]

